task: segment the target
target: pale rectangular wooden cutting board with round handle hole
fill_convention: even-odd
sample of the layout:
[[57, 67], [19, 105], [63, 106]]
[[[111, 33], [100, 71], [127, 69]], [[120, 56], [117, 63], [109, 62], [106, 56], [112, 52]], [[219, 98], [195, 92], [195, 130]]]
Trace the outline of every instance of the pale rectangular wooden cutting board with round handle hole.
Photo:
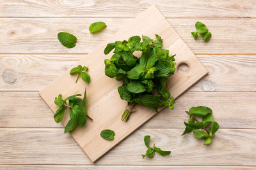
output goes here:
[[[70, 67], [59, 78], [40, 91], [40, 96], [55, 113], [58, 106], [54, 104], [54, 97], [58, 96], [58, 94], [63, 94], [63, 97], [83, 94], [84, 87], [87, 87], [88, 114], [93, 118], [93, 122], [88, 120], [84, 127], [76, 127], [70, 134], [77, 141], [78, 145], [83, 148], [92, 162], [102, 157], [102, 155], [157, 114], [154, 110], [145, 106], [136, 106], [136, 112], [131, 114], [128, 122], [121, 121], [121, 116], [127, 106], [127, 102], [120, 99], [117, 92], [117, 87], [122, 82], [111, 79], [104, 74], [104, 59], [109, 59], [112, 55], [112, 53], [104, 55], [104, 48], [108, 43], [117, 40], [122, 41], [130, 36], [145, 35], [154, 38], [154, 34], [159, 34], [163, 38], [163, 48], [170, 50], [170, 55], [177, 54], [175, 56], [177, 66], [184, 63], [189, 66], [189, 71], [186, 75], [180, 74], [176, 70], [175, 74], [169, 78], [168, 89], [172, 96], [177, 98], [196, 81], [205, 76], [208, 71], [156, 6], [150, 6], [150, 8], [143, 11], [134, 20], [124, 24], [124, 27], [116, 32], [112, 38], [102, 43], [102, 45], [75, 65], [81, 64], [82, 66], [89, 67], [89, 74], [91, 76], [89, 85], [81, 79], [75, 83], [77, 76], [69, 74], [72, 68]], [[193, 39], [193, 36], [191, 36], [191, 39]], [[159, 110], [162, 109], [159, 108]], [[172, 113], [171, 110], [170, 113]], [[69, 113], [67, 110], [62, 121], [63, 125], [66, 125], [68, 120]], [[161, 122], [159, 123], [161, 124]], [[104, 129], [115, 131], [116, 136], [113, 141], [106, 141], [100, 137], [100, 132]]]

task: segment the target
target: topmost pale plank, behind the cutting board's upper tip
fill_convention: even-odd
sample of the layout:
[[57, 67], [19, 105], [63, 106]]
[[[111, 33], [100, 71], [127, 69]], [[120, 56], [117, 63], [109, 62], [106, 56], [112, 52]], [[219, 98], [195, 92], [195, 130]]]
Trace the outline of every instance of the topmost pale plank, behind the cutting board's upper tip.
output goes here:
[[[256, 17], [255, 1], [0, 1], [1, 17], [136, 17], [156, 4], [164, 17]], [[110, 5], [109, 5], [110, 4]], [[185, 5], [186, 4], [186, 5]]]

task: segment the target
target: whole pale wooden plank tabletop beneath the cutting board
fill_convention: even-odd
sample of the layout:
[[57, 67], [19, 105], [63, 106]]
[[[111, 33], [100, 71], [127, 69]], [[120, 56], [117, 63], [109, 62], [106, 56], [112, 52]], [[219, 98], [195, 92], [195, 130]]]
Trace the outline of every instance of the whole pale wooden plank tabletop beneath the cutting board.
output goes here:
[[[38, 91], [153, 3], [209, 75], [92, 164]], [[0, 1], [0, 169], [256, 169], [255, 10], [254, 0]], [[197, 20], [212, 32], [208, 43], [190, 34]], [[90, 34], [96, 21], [108, 27]], [[60, 31], [77, 36], [75, 48], [60, 44]], [[184, 111], [198, 105], [220, 124], [211, 146], [180, 136]], [[172, 154], [141, 159], [146, 134]]]

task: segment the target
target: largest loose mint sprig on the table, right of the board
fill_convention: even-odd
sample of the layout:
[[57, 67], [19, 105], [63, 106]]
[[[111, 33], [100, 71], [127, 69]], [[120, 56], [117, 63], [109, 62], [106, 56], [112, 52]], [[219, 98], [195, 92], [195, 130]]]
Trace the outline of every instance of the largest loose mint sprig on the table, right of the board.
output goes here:
[[[215, 132], [218, 131], [220, 127], [217, 122], [214, 122], [212, 110], [206, 106], [198, 106], [190, 108], [188, 113], [190, 117], [188, 122], [184, 122], [186, 129], [182, 135], [193, 131], [196, 138], [205, 139], [204, 145], [211, 144], [212, 137], [214, 137]], [[202, 122], [199, 122], [196, 117], [202, 118]], [[209, 127], [209, 125], [211, 125], [211, 127]], [[197, 129], [204, 129], [206, 132]]]

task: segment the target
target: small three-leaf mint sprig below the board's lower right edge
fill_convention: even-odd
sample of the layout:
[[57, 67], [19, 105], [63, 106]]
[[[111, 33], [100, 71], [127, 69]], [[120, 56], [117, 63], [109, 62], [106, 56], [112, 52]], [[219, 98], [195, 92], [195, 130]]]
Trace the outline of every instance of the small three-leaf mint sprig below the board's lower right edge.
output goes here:
[[166, 156], [166, 155], [170, 155], [170, 154], [171, 154], [170, 151], [164, 151], [164, 150], [161, 150], [160, 148], [157, 148], [157, 147], [155, 146], [155, 144], [154, 144], [153, 147], [150, 147], [150, 146], [148, 145], [149, 139], [150, 139], [150, 136], [148, 136], [148, 135], [144, 137], [144, 143], [145, 143], [145, 145], [147, 146], [148, 150], [147, 150], [147, 152], [145, 153], [145, 155], [142, 155], [142, 158], [145, 158], [146, 156], [149, 157], [149, 158], [152, 158], [152, 157], [154, 157], [154, 155], [155, 155], [156, 152], [159, 153], [159, 154], [162, 155], [162, 156]]

